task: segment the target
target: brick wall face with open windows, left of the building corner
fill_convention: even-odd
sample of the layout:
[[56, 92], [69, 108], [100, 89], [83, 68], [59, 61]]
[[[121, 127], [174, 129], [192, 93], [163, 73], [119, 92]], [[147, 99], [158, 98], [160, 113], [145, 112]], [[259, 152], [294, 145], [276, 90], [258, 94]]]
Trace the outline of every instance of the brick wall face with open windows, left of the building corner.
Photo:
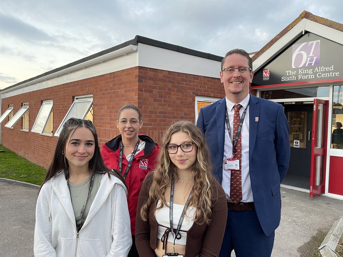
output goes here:
[[[74, 96], [93, 94], [93, 122], [97, 127], [101, 143], [118, 134], [116, 117], [118, 106], [126, 102], [137, 102], [138, 68], [118, 71], [88, 79], [82, 79], [50, 88], [32, 91], [2, 99], [2, 112], [13, 104], [14, 113], [29, 102], [29, 132], [21, 131], [22, 119], [9, 129], [6, 121], [1, 124], [2, 144], [29, 161], [47, 168], [55, 150], [57, 137], [31, 132], [43, 100], [52, 99], [54, 103], [53, 133], [69, 110]], [[117, 131], [115, 131], [117, 130]]]

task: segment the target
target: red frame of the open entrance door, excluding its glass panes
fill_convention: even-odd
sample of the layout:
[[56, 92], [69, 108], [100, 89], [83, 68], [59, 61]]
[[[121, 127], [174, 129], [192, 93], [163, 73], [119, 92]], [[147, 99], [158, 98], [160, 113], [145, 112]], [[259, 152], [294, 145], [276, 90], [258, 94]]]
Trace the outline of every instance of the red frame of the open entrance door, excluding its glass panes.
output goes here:
[[[317, 148], [317, 132], [318, 132], [318, 106], [322, 103], [325, 107], [323, 112], [323, 136], [322, 148]], [[324, 193], [325, 174], [326, 174], [326, 156], [327, 156], [327, 138], [328, 138], [328, 118], [329, 118], [329, 101], [314, 99], [313, 103], [313, 123], [312, 123], [312, 146], [311, 146], [311, 171], [310, 171], [310, 197], [315, 197]], [[317, 157], [322, 156], [322, 183], [316, 186], [316, 168]]]

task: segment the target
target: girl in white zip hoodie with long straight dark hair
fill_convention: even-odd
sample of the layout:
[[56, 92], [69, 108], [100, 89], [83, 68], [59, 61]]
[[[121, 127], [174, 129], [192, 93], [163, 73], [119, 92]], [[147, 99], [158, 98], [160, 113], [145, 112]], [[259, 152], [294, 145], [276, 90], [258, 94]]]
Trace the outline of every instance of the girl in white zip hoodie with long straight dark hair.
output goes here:
[[126, 192], [119, 173], [103, 162], [93, 123], [69, 119], [38, 192], [35, 256], [127, 256]]

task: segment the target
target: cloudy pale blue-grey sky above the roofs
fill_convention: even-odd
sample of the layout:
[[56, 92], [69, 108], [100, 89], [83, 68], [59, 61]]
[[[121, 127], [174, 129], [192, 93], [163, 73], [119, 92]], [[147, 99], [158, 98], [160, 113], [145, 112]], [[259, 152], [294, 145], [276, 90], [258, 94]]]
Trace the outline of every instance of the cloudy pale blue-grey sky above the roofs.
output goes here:
[[135, 35], [219, 56], [258, 51], [304, 10], [343, 23], [342, 0], [1, 0], [0, 89]]

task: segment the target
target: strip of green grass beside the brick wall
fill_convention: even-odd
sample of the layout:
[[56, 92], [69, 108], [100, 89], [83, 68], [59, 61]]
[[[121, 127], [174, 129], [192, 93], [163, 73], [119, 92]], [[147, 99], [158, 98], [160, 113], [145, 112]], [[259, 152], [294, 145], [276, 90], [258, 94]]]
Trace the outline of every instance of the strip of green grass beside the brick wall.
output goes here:
[[13, 179], [31, 184], [42, 184], [46, 169], [29, 162], [0, 145], [0, 178]]

